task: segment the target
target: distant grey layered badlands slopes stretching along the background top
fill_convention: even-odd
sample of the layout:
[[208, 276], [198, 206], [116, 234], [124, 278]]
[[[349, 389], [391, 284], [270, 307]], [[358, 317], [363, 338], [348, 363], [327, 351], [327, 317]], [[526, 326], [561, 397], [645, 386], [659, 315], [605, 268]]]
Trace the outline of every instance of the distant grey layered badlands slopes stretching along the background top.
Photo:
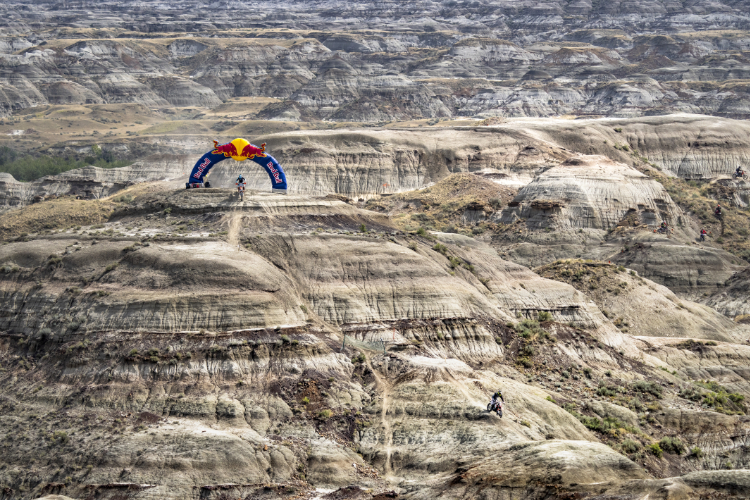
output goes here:
[[0, 9], [4, 117], [137, 103], [194, 118], [258, 98], [253, 115], [290, 122], [750, 113], [747, 5], [737, 0]]

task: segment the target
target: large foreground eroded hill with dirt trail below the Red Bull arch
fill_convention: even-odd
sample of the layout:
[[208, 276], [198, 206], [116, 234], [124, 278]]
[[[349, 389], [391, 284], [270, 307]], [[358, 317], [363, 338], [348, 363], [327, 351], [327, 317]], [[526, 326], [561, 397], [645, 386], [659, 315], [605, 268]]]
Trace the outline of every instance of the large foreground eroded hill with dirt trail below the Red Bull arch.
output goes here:
[[335, 197], [70, 203], [112, 211], [0, 246], [4, 498], [746, 497], [746, 327], [616, 264]]

